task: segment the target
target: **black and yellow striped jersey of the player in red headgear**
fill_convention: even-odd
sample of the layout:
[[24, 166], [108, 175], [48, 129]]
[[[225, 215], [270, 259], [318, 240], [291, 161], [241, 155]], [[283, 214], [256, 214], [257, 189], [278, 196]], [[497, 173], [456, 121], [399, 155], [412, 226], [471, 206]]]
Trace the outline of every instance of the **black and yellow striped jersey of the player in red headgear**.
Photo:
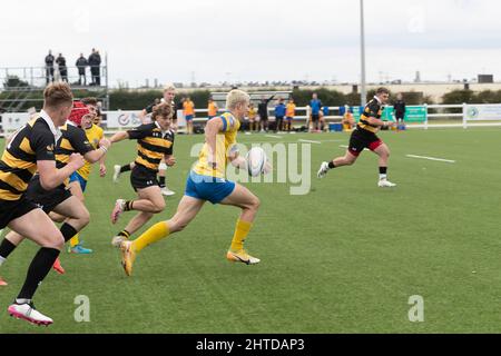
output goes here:
[[87, 139], [86, 131], [81, 128], [66, 123], [60, 129], [62, 136], [56, 145], [56, 164], [58, 168], [65, 167], [72, 154], [85, 156], [94, 150], [92, 145]]

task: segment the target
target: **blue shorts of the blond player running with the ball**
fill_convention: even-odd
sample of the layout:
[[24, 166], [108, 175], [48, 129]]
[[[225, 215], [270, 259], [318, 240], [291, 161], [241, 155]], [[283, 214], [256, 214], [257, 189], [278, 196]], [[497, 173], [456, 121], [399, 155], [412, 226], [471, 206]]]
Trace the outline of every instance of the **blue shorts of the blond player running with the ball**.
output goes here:
[[219, 204], [235, 190], [235, 182], [190, 171], [186, 180], [185, 196]]

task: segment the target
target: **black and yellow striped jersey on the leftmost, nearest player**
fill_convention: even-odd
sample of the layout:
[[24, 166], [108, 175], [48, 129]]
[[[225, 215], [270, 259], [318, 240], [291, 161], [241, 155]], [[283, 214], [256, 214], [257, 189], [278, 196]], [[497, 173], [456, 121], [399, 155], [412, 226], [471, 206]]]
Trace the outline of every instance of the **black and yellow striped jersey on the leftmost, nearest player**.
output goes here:
[[55, 160], [55, 134], [42, 117], [12, 136], [0, 160], [0, 200], [21, 198], [37, 171], [37, 161]]

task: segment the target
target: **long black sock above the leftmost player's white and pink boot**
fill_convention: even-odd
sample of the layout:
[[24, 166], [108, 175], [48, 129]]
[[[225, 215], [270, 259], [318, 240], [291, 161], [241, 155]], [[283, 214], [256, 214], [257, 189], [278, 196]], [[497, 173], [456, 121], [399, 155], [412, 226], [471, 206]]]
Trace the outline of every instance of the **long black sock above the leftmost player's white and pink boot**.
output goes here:
[[38, 286], [46, 278], [58, 256], [59, 250], [55, 248], [42, 247], [38, 250], [28, 268], [28, 275], [18, 299], [31, 300], [33, 298]]

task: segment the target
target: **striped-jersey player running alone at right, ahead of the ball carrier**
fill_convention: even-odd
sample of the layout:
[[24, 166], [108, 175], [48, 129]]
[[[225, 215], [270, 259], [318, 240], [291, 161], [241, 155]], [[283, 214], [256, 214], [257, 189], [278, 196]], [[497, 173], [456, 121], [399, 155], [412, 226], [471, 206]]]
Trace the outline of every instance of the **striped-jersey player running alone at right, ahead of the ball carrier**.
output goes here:
[[337, 157], [331, 162], [323, 162], [317, 174], [318, 178], [324, 178], [331, 169], [353, 165], [360, 154], [362, 154], [365, 148], [369, 148], [380, 157], [380, 181], [377, 182], [377, 186], [380, 188], [391, 188], [396, 186], [387, 180], [390, 149], [376, 135], [381, 128], [393, 126], [394, 123], [381, 120], [384, 109], [383, 106], [389, 99], [390, 91], [386, 88], [379, 88], [376, 90], [375, 97], [365, 106], [356, 129], [352, 132], [346, 155], [344, 157]]

